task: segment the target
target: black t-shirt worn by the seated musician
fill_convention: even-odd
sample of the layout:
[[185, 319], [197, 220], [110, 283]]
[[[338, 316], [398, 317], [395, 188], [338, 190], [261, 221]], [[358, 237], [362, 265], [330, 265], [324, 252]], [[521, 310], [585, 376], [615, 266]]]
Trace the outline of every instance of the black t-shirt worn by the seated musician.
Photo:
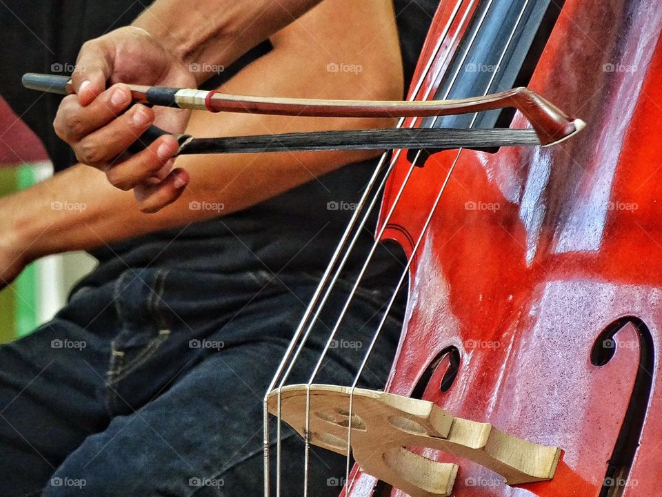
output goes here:
[[[60, 67], [66, 70], [68, 64], [73, 64], [83, 41], [130, 23], [139, 14], [140, 3], [6, 0], [4, 4], [5, 8], [0, 6], [0, 26], [3, 26], [0, 41], [3, 46], [22, 49], [0, 53], [0, 92], [43, 139], [56, 170], [61, 170], [73, 164], [74, 157], [52, 133], [59, 97], [45, 95], [37, 106], [30, 107], [34, 94], [21, 88], [21, 74], [53, 72]], [[394, 0], [405, 88], [410, 84], [438, 4], [439, 0]], [[26, 25], [9, 12], [14, 8], [26, 12], [22, 17]], [[235, 65], [235, 70], [268, 50], [266, 44], [256, 48]], [[226, 72], [225, 77], [231, 74]], [[248, 270], [319, 273], [328, 264], [350, 220], [353, 211], [348, 206], [359, 199], [375, 164], [375, 161], [350, 164], [244, 211], [92, 251], [101, 264], [91, 280], [106, 281], [125, 271], [127, 265], [230, 273]], [[359, 254], [365, 256], [373, 242], [374, 222], [373, 217], [359, 240], [357, 257], [350, 259], [352, 271], [362, 262]], [[397, 251], [393, 249], [379, 249], [365, 280], [368, 286], [371, 282], [379, 285], [383, 275], [401, 270], [401, 261], [394, 254]]]

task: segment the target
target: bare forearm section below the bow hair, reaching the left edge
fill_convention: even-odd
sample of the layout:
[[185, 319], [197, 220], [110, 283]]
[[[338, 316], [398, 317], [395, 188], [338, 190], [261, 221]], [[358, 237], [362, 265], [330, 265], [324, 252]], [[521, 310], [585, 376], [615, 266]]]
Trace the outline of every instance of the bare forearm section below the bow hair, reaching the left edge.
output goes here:
[[[141, 212], [133, 194], [110, 186], [101, 171], [79, 164], [26, 191], [1, 198], [0, 210], [8, 224], [3, 229], [28, 261], [54, 253], [90, 250], [228, 215], [310, 181], [320, 169], [345, 162], [337, 154], [301, 155], [289, 161], [261, 155], [256, 162], [253, 160], [197, 159], [190, 164], [193, 179], [183, 197], [154, 214]], [[252, 174], [246, 175], [247, 168]]]

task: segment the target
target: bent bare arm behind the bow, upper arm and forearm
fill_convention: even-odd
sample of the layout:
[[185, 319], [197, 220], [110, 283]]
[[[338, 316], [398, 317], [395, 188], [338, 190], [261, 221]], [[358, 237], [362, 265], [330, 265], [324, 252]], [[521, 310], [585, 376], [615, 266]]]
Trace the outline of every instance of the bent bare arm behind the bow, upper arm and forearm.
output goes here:
[[[361, 30], [351, 28], [352, 23], [359, 22]], [[323, 3], [275, 35], [274, 50], [239, 72], [222, 90], [308, 98], [394, 99], [402, 93], [397, 41], [388, 0]], [[374, 44], [372, 50], [356, 52], [357, 46], [369, 43]], [[352, 61], [362, 70], [334, 74], [330, 79], [326, 65], [333, 60]], [[384, 72], [383, 68], [390, 70]], [[275, 72], [279, 77], [263, 77]], [[393, 122], [199, 112], [192, 115], [186, 131], [197, 137], [257, 135], [382, 127]], [[179, 201], [155, 214], [142, 213], [134, 195], [110, 186], [101, 171], [74, 166], [28, 191], [0, 199], [0, 211], [5, 220], [12, 220], [8, 231], [19, 233], [20, 244], [29, 247], [30, 259], [34, 259], [228, 215], [370, 155], [328, 152], [180, 157], [175, 165], [189, 171], [190, 184]]]

